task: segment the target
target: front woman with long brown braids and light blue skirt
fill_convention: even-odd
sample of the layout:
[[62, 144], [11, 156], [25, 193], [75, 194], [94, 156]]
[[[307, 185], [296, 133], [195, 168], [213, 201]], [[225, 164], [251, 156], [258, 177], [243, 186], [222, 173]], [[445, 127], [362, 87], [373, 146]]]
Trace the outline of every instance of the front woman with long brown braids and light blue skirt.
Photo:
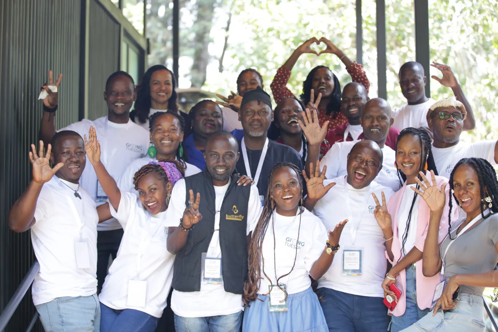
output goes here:
[[[313, 164], [310, 165], [313, 168]], [[319, 162], [310, 178], [302, 172], [313, 197], [329, 191]], [[249, 245], [249, 275], [244, 283], [243, 332], [328, 331], [311, 275], [319, 279], [330, 267], [347, 221], [328, 232], [302, 206], [301, 171], [279, 162], [268, 177], [264, 207]]]

